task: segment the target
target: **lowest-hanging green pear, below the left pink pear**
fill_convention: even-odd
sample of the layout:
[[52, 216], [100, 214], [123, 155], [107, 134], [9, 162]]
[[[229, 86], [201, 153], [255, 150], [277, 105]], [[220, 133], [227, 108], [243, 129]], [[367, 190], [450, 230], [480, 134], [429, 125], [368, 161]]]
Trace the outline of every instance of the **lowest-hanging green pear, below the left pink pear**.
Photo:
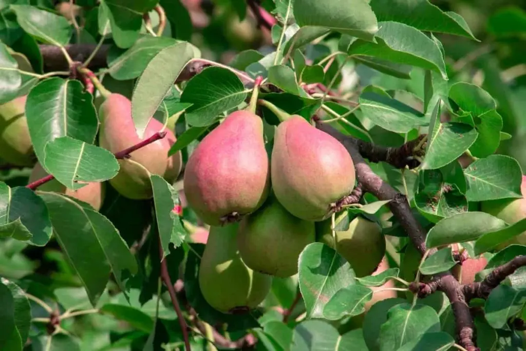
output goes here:
[[239, 223], [210, 227], [199, 266], [199, 287], [206, 302], [222, 313], [257, 307], [272, 284], [269, 275], [248, 268], [237, 248]]

